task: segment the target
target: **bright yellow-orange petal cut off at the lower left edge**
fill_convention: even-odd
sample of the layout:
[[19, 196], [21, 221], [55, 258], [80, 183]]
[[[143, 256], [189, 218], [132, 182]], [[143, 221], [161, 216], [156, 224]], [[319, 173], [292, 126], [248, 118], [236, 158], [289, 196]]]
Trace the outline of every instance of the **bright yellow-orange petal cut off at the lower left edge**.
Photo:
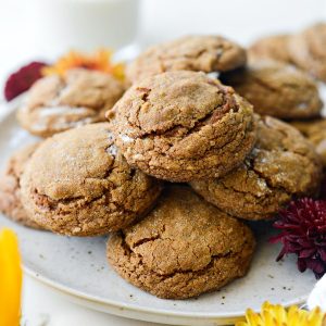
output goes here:
[[18, 326], [22, 267], [18, 242], [10, 229], [0, 233], [0, 325]]

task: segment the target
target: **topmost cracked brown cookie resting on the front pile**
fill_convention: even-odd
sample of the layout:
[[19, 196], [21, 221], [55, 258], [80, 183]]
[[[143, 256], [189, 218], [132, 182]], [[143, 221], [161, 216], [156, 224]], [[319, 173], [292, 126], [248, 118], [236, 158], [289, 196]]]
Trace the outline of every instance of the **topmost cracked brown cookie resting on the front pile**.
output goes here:
[[203, 73], [142, 79], [114, 113], [112, 130], [128, 163], [170, 181], [222, 176], [255, 141], [252, 106]]

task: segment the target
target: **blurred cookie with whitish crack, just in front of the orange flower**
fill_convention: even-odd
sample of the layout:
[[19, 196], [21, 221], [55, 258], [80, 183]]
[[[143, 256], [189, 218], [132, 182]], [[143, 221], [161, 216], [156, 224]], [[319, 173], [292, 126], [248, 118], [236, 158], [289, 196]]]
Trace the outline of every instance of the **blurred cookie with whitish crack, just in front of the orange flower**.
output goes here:
[[123, 92], [123, 84], [109, 74], [74, 68], [64, 77], [52, 75], [38, 80], [27, 93], [17, 118], [33, 135], [49, 137], [105, 121], [105, 111]]

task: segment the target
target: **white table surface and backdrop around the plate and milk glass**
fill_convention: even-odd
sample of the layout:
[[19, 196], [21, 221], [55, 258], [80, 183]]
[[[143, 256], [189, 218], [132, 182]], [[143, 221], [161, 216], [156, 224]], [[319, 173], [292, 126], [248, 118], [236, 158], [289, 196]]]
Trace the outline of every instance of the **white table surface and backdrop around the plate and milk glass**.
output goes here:
[[[26, 3], [30, 1], [0, 0], [1, 89], [10, 71], [40, 57], [21, 10]], [[139, 42], [145, 46], [183, 34], [217, 33], [246, 45], [256, 36], [298, 30], [323, 17], [323, 0], [143, 0]], [[2, 113], [4, 110], [0, 105]], [[24, 278], [23, 317], [27, 326], [159, 325], [90, 311], [28, 276]]]

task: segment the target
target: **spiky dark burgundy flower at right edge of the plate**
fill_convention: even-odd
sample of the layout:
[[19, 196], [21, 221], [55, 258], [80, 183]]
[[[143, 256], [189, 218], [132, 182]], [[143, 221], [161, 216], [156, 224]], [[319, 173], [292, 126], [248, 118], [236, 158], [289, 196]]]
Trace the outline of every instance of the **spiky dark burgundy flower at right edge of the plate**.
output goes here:
[[277, 261], [285, 254], [294, 253], [300, 272], [312, 269], [316, 278], [326, 273], [325, 200], [303, 198], [292, 201], [279, 212], [274, 227], [281, 230], [269, 240], [272, 243], [283, 243]]

